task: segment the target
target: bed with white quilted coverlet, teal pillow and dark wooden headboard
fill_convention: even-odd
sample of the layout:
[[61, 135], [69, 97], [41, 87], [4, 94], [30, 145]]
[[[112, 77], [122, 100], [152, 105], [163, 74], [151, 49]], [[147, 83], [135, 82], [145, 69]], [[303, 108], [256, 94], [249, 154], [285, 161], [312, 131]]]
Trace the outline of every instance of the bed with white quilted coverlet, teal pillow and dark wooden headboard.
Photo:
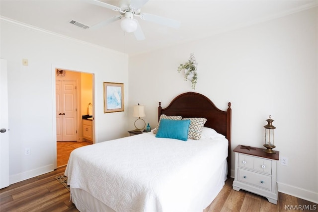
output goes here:
[[[166, 122], [183, 126], [198, 117], [206, 119], [200, 139], [160, 137]], [[206, 96], [187, 92], [166, 108], [159, 102], [158, 120], [150, 133], [72, 151], [65, 175], [79, 211], [186, 212], [209, 206], [231, 173], [231, 103], [222, 111]]]

